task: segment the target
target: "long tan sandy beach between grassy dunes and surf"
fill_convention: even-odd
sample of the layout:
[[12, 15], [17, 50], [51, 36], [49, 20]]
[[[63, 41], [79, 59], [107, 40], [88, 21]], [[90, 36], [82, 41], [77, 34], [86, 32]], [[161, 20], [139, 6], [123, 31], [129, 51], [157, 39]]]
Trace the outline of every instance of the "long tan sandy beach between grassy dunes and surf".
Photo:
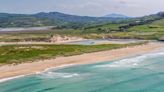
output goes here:
[[0, 79], [33, 74], [44, 71], [47, 68], [55, 68], [69, 64], [89, 64], [116, 60], [128, 56], [149, 53], [155, 50], [159, 50], [162, 47], [164, 47], [164, 44], [162, 43], [148, 43], [140, 46], [132, 46], [109, 51], [86, 53], [82, 55], [69, 57], [58, 57], [56, 59], [36, 61], [32, 63], [23, 63], [19, 65], [3, 65], [0, 67]]

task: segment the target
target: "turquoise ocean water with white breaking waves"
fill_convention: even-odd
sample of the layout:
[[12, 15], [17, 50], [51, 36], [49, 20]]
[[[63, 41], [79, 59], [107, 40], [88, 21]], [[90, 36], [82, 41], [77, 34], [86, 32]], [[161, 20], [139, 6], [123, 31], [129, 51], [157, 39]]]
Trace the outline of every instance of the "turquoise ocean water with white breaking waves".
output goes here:
[[164, 52], [50, 69], [2, 82], [0, 92], [164, 92]]

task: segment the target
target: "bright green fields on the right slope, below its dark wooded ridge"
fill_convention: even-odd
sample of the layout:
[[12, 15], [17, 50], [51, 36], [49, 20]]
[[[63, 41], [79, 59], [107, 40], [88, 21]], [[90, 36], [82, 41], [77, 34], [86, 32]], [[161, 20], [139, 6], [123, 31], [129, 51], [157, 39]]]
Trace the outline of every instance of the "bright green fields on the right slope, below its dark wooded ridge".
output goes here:
[[[158, 40], [164, 37], [164, 19], [153, 20], [140, 25], [129, 26], [124, 31], [120, 31], [119, 27], [126, 24], [106, 24], [97, 27], [91, 27], [83, 30], [86, 38], [114, 38], [114, 39], [144, 39]], [[84, 35], [86, 33], [86, 35]]]

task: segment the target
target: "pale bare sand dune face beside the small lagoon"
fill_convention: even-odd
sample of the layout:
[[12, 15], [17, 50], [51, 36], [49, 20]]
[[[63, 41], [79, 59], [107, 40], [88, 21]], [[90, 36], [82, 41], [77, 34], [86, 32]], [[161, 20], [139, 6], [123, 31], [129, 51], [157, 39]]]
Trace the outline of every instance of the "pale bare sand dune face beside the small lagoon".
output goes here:
[[77, 41], [77, 40], [83, 40], [83, 38], [80, 38], [80, 37], [61, 36], [61, 35], [53, 35], [50, 38], [50, 42], [54, 42], [54, 43], [62, 43], [62, 42]]

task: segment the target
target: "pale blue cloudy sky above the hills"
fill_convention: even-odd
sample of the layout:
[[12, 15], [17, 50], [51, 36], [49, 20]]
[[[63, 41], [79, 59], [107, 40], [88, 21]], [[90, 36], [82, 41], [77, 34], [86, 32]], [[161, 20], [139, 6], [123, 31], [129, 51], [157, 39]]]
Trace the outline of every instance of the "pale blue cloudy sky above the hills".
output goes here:
[[0, 0], [0, 12], [30, 14], [58, 11], [82, 16], [110, 13], [143, 16], [164, 11], [163, 4], [164, 0]]

